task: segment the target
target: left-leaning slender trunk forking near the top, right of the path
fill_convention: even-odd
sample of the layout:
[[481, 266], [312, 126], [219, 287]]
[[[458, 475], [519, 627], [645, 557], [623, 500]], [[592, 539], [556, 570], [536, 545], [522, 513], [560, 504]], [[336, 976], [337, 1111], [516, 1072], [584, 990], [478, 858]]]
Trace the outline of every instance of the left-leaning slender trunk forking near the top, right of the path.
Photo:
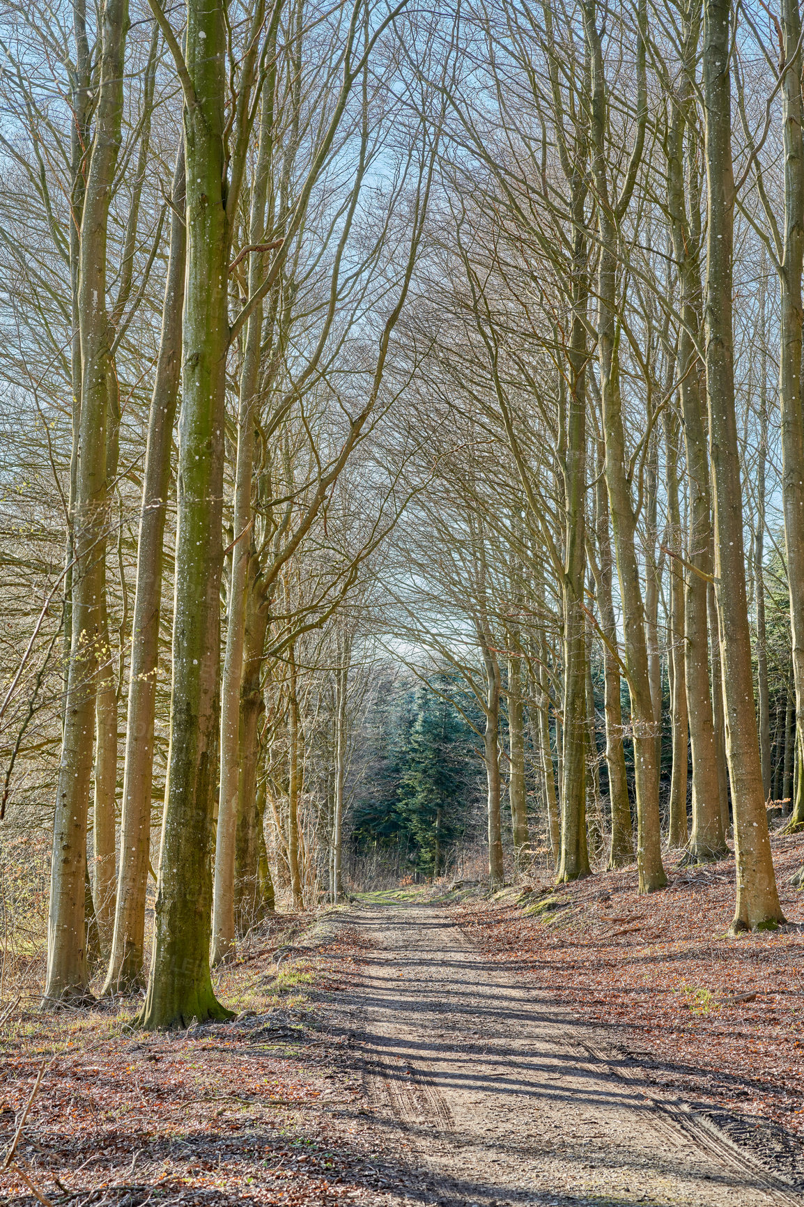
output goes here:
[[[640, 589], [636, 556], [636, 514], [628, 476], [629, 457], [625, 453], [619, 362], [617, 354], [617, 221], [630, 200], [633, 174], [624, 182], [625, 192], [610, 198], [608, 161], [606, 154], [607, 98], [600, 30], [596, 27], [596, 2], [584, 4], [584, 31], [590, 51], [590, 134], [593, 173], [596, 185], [598, 229], [600, 234], [598, 267], [598, 361], [600, 395], [606, 441], [606, 485], [611, 507], [617, 575], [624, 613], [624, 653], [628, 686], [631, 696], [631, 730], [634, 735], [634, 780], [636, 788], [636, 865], [639, 890], [649, 893], [663, 888], [666, 876], [662, 865], [662, 835], [659, 829], [659, 768], [657, 763], [657, 719], [651, 694], [651, 667], [646, 641], [645, 607]], [[640, 25], [647, 16], [640, 6]], [[645, 34], [637, 51], [637, 112], [640, 115], [636, 145], [631, 163], [637, 164], [645, 140], [647, 115], [647, 84], [645, 75]], [[630, 183], [629, 183], [630, 182]], [[660, 721], [660, 718], [658, 718]]]

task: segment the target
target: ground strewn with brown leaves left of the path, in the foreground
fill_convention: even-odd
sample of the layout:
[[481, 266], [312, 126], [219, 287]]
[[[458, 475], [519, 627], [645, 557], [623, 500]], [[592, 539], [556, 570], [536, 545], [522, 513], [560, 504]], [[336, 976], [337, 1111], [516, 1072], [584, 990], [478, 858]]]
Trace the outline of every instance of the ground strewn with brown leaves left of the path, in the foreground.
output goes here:
[[[285, 923], [287, 920], [282, 920]], [[328, 1113], [359, 1086], [327, 1022], [330, 995], [360, 960], [356, 935], [309, 960], [263, 949], [221, 976], [243, 1009], [232, 1025], [144, 1034], [100, 1009], [70, 1015], [16, 1010], [0, 1028], [0, 1155], [41, 1061], [41, 1091], [19, 1154], [53, 1203], [331, 1203], [362, 1196], [351, 1131]], [[315, 1004], [314, 1004], [315, 1002]], [[136, 1008], [129, 1002], [129, 1016]], [[357, 1178], [357, 1180], [356, 1180]], [[6, 1202], [34, 1202], [13, 1170]]]

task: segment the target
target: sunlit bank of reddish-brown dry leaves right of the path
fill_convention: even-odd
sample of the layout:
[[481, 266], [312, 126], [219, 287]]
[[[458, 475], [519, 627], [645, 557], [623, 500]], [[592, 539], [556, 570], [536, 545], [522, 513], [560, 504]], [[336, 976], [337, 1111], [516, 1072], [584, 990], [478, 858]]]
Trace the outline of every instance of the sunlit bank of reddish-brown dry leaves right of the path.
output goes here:
[[[804, 863], [804, 838], [773, 846], [785, 914], [802, 922], [804, 897], [790, 877]], [[649, 897], [637, 894], [631, 867], [560, 886], [557, 900], [569, 908], [538, 920], [511, 900], [466, 902], [458, 920], [489, 956], [526, 970], [534, 989], [654, 1054], [659, 1086], [804, 1137], [804, 937], [726, 937], [733, 858], [668, 861], [668, 888]]]

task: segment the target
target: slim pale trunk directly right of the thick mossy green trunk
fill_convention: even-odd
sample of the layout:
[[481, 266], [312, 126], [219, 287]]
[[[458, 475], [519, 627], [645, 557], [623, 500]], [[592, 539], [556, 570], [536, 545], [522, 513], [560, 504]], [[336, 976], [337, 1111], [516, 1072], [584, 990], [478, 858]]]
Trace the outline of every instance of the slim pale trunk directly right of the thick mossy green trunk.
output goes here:
[[[273, 89], [266, 87], [262, 98], [260, 151], [251, 189], [249, 245], [264, 244], [266, 205], [274, 141]], [[249, 293], [256, 293], [264, 276], [264, 252], [252, 252], [249, 266]], [[251, 542], [244, 540], [254, 523], [251, 506], [254, 473], [254, 426], [260, 362], [262, 358], [262, 304], [255, 307], [245, 331], [240, 402], [238, 413], [238, 450], [234, 471], [234, 548], [229, 614], [226, 629], [226, 653], [221, 682], [221, 793], [215, 842], [215, 885], [212, 893], [212, 963], [234, 954], [234, 869], [237, 863], [237, 826], [240, 782], [240, 683], [245, 636], [246, 581]]]

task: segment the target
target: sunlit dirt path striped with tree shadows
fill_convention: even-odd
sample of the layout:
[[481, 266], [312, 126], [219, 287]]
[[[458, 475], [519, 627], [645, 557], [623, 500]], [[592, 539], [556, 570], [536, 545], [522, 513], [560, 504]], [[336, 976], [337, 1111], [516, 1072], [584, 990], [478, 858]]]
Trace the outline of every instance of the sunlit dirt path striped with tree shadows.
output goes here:
[[682, 1103], [651, 1097], [588, 1027], [488, 964], [438, 905], [372, 905], [349, 922], [374, 944], [349, 1004], [363, 1124], [378, 1173], [402, 1158], [415, 1201], [803, 1202]]

